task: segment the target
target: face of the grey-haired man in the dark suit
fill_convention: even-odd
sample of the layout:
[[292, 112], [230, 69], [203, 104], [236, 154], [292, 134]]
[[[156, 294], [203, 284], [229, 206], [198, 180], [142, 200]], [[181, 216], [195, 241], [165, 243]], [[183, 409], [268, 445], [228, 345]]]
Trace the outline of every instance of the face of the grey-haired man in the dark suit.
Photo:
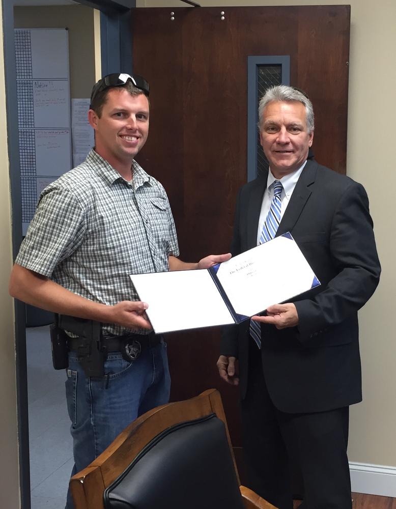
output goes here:
[[314, 139], [306, 125], [305, 106], [299, 101], [273, 101], [264, 108], [261, 120], [261, 146], [272, 175], [281, 179], [306, 160]]

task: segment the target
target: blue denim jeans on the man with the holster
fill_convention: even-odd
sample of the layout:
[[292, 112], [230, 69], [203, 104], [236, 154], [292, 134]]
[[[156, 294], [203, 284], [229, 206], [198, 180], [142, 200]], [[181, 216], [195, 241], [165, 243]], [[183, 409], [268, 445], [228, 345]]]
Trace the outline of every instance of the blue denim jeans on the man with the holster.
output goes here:
[[[74, 467], [87, 467], [136, 417], [168, 403], [171, 388], [166, 344], [147, 347], [128, 362], [107, 355], [103, 378], [86, 378], [75, 352], [69, 352], [66, 400], [71, 420]], [[70, 489], [66, 509], [73, 509]]]

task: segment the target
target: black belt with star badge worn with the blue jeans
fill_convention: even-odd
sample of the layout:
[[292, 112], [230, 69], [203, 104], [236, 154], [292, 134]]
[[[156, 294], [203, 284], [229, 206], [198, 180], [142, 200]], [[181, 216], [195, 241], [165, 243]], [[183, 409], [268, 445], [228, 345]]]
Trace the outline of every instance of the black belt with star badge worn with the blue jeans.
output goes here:
[[[104, 353], [121, 352], [129, 360], [136, 359], [140, 352], [148, 347], [155, 347], [161, 342], [161, 336], [150, 332], [150, 334], [125, 334], [122, 336], [103, 336], [101, 350]], [[83, 353], [84, 349], [91, 344], [87, 338], [68, 337], [67, 346], [70, 351]]]

